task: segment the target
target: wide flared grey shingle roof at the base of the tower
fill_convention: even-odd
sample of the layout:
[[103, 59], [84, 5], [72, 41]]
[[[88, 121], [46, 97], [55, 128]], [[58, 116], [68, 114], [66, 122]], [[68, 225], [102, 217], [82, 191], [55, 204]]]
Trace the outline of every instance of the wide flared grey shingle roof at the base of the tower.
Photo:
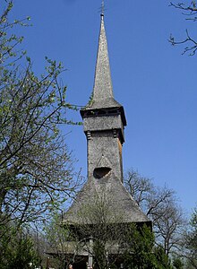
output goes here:
[[[89, 214], [89, 210], [92, 210], [91, 205], [96, 202], [95, 199], [100, 199], [103, 203], [103, 197], [106, 199], [110, 215], [115, 216], [115, 222], [118, 215], [122, 223], [150, 222], [113, 172], [104, 178], [92, 177], [88, 179], [67, 213], [64, 214], [64, 222], [73, 225], [96, 224], [93, 223], [94, 220], [89, 220], [87, 216], [83, 216], [83, 213]], [[114, 222], [113, 218], [110, 220]]]

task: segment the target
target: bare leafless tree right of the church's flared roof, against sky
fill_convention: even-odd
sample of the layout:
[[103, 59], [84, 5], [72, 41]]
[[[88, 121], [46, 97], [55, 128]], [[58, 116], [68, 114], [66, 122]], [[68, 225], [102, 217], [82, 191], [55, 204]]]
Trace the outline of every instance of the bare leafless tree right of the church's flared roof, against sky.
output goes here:
[[167, 255], [179, 248], [185, 221], [175, 192], [167, 187], [155, 187], [150, 178], [141, 177], [133, 169], [125, 174], [124, 183], [143, 213], [153, 222], [157, 244], [163, 246]]

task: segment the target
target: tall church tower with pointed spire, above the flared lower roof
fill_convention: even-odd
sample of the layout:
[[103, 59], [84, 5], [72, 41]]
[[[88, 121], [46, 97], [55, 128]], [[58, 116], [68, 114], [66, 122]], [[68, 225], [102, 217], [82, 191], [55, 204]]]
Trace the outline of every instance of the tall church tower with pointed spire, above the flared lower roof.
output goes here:
[[93, 95], [90, 103], [81, 109], [81, 117], [88, 141], [88, 178], [104, 180], [113, 173], [123, 182], [122, 145], [126, 119], [124, 108], [114, 99], [103, 15]]

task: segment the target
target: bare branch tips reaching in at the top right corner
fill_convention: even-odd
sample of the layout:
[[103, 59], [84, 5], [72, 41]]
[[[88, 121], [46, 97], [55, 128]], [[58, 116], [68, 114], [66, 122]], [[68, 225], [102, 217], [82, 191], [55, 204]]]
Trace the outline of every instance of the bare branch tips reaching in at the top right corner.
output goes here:
[[[197, 21], [197, 6], [196, 1], [186, 1], [186, 3], [178, 3], [175, 4], [173, 2], [170, 2], [170, 6], [175, 7], [178, 10], [181, 10], [183, 14], [186, 16], [186, 20], [196, 22]], [[173, 45], [181, 45], [185, 44], [186, 47], [184, 48], [185, 53], [189, 53], [190, 56], [193, 56], [196, 53], [197, 50], [197, 41], [193, 39], [189, 33], [189, 30], [186, 30], [186, 37], [185, 39], [176, 41], [175, 38], [170, 35], [169, 42]]]

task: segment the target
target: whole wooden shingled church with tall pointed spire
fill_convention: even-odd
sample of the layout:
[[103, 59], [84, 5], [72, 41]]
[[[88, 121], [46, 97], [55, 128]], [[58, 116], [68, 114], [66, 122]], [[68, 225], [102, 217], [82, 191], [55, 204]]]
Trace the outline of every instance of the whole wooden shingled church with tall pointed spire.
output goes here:
[[[88, 147], [88, 179], [64, 213], [63, 221], [77, 234], [76, 240], [68, 242], [66, 250], [66, 255], [73, 256], [71, 268], [74, 269], [93, 268], [94, 241], [96, 234], [100, 238], [106, 237], [104, 226], [111, 233], [115, 227], [121, 230], [131, 223], [151, 226], [123, 183], [122, 147], [126, 118], [124, 107], [114, 98], [103, 13], [93, 94], [88, 105], [81, 109], [81, 117]], [[108, 258], [117, 253], [120, 257], [116, 232], [112, 238], [112, 244], [105, 241]], [[124, 261], [117, 258], [116, 266], [124, 268]]]

